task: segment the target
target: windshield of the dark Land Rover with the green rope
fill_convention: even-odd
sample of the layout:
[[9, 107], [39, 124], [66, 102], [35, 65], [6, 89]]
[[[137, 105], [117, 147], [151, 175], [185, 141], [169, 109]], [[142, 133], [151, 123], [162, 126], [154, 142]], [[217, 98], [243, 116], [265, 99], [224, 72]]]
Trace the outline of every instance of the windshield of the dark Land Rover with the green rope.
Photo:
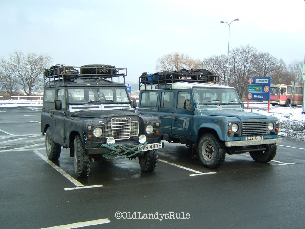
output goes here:
[[129, 103], [125, 89], [69, 88], [69, 103]]

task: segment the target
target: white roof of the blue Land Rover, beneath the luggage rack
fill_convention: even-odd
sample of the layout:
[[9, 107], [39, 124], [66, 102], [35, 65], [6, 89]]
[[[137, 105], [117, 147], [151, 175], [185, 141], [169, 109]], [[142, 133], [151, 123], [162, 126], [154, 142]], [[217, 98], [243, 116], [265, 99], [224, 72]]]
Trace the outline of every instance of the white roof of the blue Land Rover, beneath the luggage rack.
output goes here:
[[198, 82], [175, 82], [167, 84], [146, 84], [141, 85], [140, 90], [160, 90], [160, 89], [186, 89], [193, 87], [205, 87], [205, 88], [232, 88], [220, 84], [214, 83], [198, 83]]

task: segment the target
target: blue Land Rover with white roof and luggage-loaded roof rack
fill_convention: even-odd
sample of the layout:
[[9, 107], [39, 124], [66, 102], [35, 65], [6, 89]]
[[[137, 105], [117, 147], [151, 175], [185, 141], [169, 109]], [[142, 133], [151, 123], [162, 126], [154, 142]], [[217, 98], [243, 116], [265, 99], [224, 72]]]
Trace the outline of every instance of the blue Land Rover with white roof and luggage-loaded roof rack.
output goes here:
[[138, 113], [160, 118], [162, 138], [191, 146], [208, 168], [219, 167], [226, 154], [271, 161], [282, 142], [278, 119], [244, 111], [236, 89], [216, 82], [206, 70], [143, 73]]

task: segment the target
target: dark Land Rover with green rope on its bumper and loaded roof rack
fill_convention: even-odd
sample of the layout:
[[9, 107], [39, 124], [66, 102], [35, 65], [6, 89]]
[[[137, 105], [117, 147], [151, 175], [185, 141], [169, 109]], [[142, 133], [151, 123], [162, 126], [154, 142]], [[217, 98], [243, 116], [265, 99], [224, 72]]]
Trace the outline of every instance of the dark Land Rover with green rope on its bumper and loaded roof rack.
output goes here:
[[126, 68], [101, 64], [46, 69], [41, 133], [49, 159], [70, 148], [78, 177], [88, 176], [97, 160], [138, 157], [143, 171], [156, 168], [160, 119], [135, 113], [126, 75]]

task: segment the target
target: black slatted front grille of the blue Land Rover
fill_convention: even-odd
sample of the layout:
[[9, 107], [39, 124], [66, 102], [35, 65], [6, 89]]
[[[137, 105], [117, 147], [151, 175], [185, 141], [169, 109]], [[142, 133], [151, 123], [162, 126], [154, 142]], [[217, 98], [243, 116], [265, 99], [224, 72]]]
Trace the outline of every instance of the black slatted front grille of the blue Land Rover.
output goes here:
[[242, 122], [242, 136], [268, 134], [268, 122]]

